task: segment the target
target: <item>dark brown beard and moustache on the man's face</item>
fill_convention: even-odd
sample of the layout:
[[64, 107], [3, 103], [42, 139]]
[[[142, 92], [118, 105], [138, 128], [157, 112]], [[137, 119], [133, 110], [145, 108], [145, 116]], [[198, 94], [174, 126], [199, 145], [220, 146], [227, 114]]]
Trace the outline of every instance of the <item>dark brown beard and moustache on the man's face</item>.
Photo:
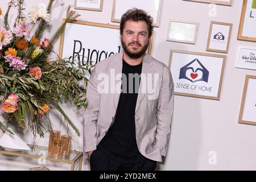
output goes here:
[[[123, 51], [125, 51], [125, 53], [131, 57], [131, 59], [137, 59], [141, 56], [144, 55], [144, 53], [147, 51], [147, 47], [148, 47], [148, 44], [149, 44], [149, 41], [147, 42], [147, 44], [145, 44], [143, 47], [140, 43], [138, 42], [130, 42], [128, 43], [128, 45], [126, 46], [125, 42], [123, 42], [123, 39], [121, 39], [121, 44], [122, 44], [122, 47], [123, 47]], [[131, 45], [131, 44], [137, 44], [139, 47], [142, 47], [141, 48], [141, 51], [139, 52], [131, 52], [129, 51], [128, 47]], [[138, 47], [138, 48], [139, 48]], [[137, 51], [138, 48], [133, 48], [134, 51]]]

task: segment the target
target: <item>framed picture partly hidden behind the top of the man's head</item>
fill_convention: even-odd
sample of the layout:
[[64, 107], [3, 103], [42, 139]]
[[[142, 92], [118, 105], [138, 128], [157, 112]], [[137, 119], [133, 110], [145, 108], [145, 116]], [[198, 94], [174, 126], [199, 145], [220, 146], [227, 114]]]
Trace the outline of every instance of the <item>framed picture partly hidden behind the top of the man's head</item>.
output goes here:
[[154, 19], [154, 26], [159, 26], [162, 0], [113, 0], [111, 21], [120, 22], [121, 16], [134, 7], [145, 10]]

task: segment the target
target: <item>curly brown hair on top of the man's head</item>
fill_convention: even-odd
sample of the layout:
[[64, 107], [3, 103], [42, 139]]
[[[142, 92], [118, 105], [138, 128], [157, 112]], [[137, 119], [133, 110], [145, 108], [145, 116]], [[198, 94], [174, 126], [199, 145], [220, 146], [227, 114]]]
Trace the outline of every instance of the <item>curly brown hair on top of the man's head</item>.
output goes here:
[[122, 15], [121, 18], [121, 23], [120, 23], [120, 34], [123, 32], [123, 28], [125, 28], [125, 23], [128, 20], [133, 20], [134, 22], [138, 21], [144, 21], [147, 23], [148, 27], [148, 38], [151, 37], [152, 32], [153, 32], [153, 18], [146, 13], [146, 11], [141, 10], [141, 9], [130, 9], [127, 10], [125, 14]]

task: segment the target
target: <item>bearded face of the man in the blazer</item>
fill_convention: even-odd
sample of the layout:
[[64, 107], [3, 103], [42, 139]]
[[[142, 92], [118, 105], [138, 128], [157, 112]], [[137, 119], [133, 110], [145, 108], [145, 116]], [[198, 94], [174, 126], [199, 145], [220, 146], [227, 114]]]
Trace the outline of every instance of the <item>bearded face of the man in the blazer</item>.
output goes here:
[[132, 59], [144, 55], [148, 47], [148, 27], [146, 22], [128, 20], [121, 36], [123, 51]]

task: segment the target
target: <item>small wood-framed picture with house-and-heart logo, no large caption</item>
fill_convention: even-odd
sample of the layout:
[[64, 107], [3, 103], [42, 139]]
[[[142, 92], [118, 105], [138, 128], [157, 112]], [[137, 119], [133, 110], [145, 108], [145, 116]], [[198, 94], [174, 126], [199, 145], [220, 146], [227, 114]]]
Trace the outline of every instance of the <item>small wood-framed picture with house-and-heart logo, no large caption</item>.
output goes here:
[[228, 53], [231, 23], [210, 22], [207, 51]]

